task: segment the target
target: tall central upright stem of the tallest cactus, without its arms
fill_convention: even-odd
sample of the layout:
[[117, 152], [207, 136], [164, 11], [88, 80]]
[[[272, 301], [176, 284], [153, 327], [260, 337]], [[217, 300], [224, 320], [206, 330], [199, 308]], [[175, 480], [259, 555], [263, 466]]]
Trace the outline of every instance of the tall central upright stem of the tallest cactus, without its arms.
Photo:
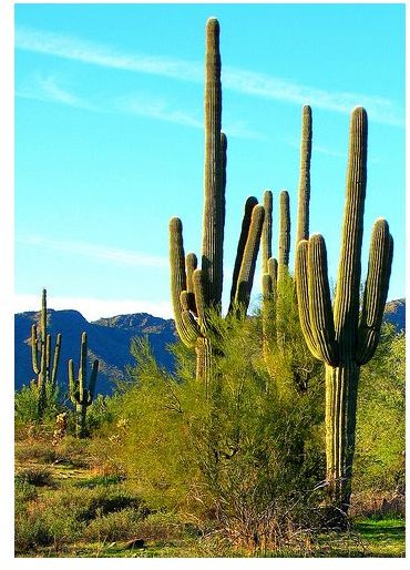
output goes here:
[[221, 54], [219, 23], [215, 18], [206, 22], [205, 54], [205, 164], [204, 164], [204, 223], [202, 269], [206, 274], [205, 299], [218, 306], [223, 281], [224, 221], [221, 172]]

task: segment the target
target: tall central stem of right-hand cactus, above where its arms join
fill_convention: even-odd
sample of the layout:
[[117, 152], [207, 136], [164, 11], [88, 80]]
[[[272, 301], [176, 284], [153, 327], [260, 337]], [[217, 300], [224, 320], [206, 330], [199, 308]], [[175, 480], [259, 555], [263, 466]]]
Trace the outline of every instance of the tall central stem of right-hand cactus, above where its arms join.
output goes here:
[[360, 254], [366, 197], [367, 114], [356, 108], [351, 114], [346, 205], [335, 298], [336, 339], [340, 357], [356, 354], [360, 298]]

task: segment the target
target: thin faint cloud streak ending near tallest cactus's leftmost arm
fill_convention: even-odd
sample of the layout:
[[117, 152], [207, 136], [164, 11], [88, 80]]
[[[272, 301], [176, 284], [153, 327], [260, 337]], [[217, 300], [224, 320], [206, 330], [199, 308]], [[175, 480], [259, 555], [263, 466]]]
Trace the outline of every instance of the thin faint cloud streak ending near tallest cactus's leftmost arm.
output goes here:
[[39, 235], [23, 235], [16, 240], [18, 244], [31, 245], [55, 250], [63, 253], [82, 255], [93, 259], [117, 263], [129, 266], [168, 267], [168, 259], [165, 256], [148, 255], [142, 252], [120, 250], [116, 247], [95, 245], [83, 242], [64, 242], [48, 240]]

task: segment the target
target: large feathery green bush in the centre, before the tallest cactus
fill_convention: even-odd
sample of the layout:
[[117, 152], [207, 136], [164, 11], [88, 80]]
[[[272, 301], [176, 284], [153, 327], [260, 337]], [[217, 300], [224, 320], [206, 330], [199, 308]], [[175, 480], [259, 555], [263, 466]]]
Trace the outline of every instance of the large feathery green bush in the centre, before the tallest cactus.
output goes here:
[[300, 395], [291, 370], [267, 375], [258, 317], [218, 326], [209, 386], [184, 350], [173, 376], [146, 342], [133, 343], [137, 365], [115, 398], [107, 454], [150, 508], [214, 520], [236, 542], [279, 540], [318, 510], [322, 385], [312, 377]]

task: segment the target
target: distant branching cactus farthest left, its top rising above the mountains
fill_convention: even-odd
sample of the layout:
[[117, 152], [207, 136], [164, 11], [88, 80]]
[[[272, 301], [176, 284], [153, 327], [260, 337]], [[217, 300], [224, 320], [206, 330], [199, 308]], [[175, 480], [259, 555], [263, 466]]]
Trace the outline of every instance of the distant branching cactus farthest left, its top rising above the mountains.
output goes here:
[[[48, 388], [51, 393], [57, 389], [57, 371], [60, 360], [62, 336], [59, 333], [54, 345], [51, 349], [51, 335], [47, 330], [47, 291], [42, 292], [41, 314], [40, 314], [40, 332], [37, 325], [31, 327], [31, 360], [33, 373], [37, 375], [34, 380], [39, 390], [38, 413], [42, 416], [47, 405]], [[51, 354], [53, 356], [51, 358]]]

